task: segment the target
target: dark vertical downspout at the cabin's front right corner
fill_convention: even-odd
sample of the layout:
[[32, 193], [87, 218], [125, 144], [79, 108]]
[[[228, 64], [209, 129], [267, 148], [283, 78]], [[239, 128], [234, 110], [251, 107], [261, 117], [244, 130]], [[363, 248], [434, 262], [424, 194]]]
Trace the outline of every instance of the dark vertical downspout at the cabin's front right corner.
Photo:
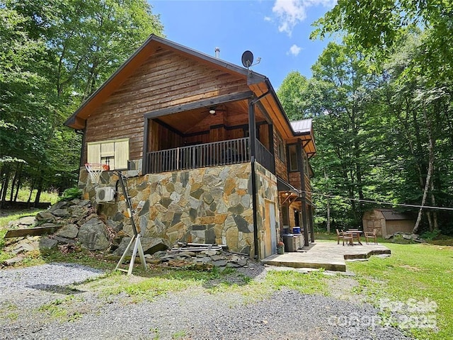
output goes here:
[[251, 173], [252, 173], [252, 210], [253, 210], [253, 247], [255, 248], [255, 259], [259, 258], [259, 249], [258, 249], [258, 192], [256, 190], [256, 172], [255, 172], [255, 156], [256, 156], [256, 121], [255, 121], [255, 104], [258, 103], [262, 98], [267, 96], [270, 91], [265, 92], [256, 99], [248, 100], [248, 130], [250, 138], [250, 158], [251, 158]]

